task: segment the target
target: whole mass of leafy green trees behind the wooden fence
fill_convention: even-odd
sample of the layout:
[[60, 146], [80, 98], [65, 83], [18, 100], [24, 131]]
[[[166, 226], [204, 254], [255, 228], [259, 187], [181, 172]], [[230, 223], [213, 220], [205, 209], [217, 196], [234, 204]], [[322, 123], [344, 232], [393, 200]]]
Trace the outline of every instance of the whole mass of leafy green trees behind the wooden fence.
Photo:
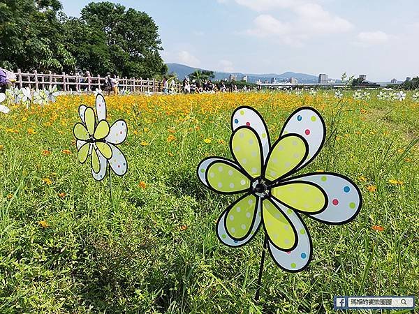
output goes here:
[[59, 0], [0, 1], [0, 67], [161, 77], [159, 28], [147, 13], [89, 3], [66, 17]]

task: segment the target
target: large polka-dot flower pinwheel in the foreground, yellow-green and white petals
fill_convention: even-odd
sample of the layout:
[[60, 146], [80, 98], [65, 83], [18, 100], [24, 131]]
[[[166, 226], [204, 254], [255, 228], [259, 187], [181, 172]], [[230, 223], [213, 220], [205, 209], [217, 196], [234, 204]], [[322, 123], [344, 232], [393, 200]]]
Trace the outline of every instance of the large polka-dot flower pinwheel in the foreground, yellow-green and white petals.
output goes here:
[[231, 119], [234, 161], [205, 158], [198, 177], [221, 194], [243, 193], [223, 211], [216, 234], [223, 244], [247, 244], [263, 225], [273, 260], [286, 271], [302, 271], [311, 260], [309, 230], [300, 213], [330, 225], [353, 220], [360, 211], [360, 190], [332, 172], [290, 177], [313, 160], [325, 142], [325, 123], [311, 107], [288, 117], [271, 147], [267, 126], [251, 107], [239, 107]]

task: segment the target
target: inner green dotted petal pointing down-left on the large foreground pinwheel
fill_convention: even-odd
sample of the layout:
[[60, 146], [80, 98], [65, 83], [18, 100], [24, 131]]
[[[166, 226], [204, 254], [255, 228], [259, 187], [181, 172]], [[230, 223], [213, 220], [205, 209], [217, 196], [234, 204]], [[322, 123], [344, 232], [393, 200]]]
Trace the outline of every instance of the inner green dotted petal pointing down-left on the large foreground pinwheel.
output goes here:
[[231, 205], [226, 213], [226, 230], [230, 237], [241, 240], [251, 232], [258, 200], [249, 194]]

